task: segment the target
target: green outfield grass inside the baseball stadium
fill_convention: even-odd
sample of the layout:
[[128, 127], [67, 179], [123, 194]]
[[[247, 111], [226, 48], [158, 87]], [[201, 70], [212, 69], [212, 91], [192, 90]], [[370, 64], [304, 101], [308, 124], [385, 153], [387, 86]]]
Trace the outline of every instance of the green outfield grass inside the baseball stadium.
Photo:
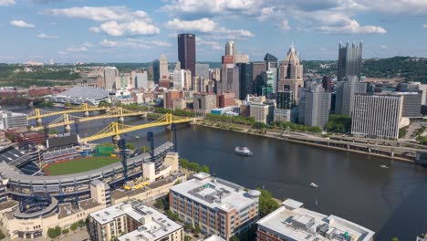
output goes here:
[[60, 162], [47, 166], [45, 171], [49, 175], [65, 175], [72, 173], [83, 173], [90, 170], [98, 169], [103, 166], [120, 162], [120, 158], [109, 156], [82, 157], [70, 160], [68, 162]]

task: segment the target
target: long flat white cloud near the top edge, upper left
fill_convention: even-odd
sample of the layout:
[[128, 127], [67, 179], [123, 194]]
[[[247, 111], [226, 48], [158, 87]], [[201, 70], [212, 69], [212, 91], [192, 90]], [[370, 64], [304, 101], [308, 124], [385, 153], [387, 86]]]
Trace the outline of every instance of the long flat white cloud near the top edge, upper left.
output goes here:
[[143, 19], [150, 22], [151, 19], [144, 11], [130, 11], [126, 6], [81, 6], [69, 8], [48, 9], [44, 14], [52, 16], [67, 16], [69, 18], [84, 18], [97, 22], [107, 21], [131, 21]]

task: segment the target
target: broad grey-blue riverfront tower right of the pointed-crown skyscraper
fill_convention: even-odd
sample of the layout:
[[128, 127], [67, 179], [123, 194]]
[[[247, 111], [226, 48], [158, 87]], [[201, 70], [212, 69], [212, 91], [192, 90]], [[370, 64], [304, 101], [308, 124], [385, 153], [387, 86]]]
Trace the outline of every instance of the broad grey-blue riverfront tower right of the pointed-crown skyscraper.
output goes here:
[[329, 121], [331, 93], [322, 85], [312, 83], [301, 89], [299, 97], [299, 122], [307, 126], [325, 126]]

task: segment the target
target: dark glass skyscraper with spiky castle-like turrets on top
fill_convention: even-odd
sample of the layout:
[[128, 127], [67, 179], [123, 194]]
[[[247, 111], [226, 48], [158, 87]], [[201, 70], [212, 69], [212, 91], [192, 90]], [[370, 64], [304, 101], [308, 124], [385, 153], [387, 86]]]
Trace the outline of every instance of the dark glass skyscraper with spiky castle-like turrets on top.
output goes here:
[[346, 46], [339, 43], [338, 50], [338, 81], [346, 80], [348, 76], [357, 76], [360, 79], [362, 42], [359, 46], [354, 42]]

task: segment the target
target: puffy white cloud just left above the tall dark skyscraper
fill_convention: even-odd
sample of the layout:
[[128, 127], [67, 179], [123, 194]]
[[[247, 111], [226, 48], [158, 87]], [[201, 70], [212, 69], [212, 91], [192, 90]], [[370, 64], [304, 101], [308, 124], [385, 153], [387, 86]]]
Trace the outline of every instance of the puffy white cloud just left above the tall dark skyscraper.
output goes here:
[[111, 37], [151, 36], [160, 34], [161, 31], [157, 26], [144, 21], [132, 21], [122, 24], [117, 21], [109, 21], [99, 27], [92, 27], [90, 30], [96, 33], [104, 32]]

